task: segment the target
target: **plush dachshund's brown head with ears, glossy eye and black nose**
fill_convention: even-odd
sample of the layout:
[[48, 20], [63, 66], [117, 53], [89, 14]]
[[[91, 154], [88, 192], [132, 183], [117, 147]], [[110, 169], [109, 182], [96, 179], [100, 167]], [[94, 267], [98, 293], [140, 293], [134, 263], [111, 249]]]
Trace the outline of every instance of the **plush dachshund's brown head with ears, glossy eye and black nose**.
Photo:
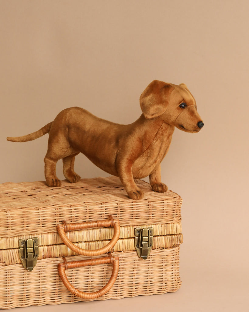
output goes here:
[[184, 83], [152, 81], [140, 96], [140, 106], [145, 118], [160, 118], [186, 132], [198, 132], [204, 125], [195, 99]]

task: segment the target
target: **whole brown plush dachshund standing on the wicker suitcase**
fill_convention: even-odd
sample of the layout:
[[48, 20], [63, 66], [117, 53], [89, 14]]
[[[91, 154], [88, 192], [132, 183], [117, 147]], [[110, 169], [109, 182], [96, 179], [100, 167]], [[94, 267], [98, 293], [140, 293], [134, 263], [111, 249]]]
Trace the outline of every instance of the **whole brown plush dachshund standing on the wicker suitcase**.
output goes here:
[[72, 183], [79, 181], [73, 167], [75, 156], [81, 152], [102, 170], [118, 176], [131, 199], [141, 199], [143, 191], [134, 178], [149, 176], [155, 192], [167, 191], [161, 182], [160, 163], [168, 152], [174, 128], [195, 133], [204, 124], [185, 84], [154, 80], [141, 94], [140, 106], [143, 114], [128, 125], [100, 119], [79, 107], [67, 108], [40, 130], [7, 140], [26, 142], [49, 133], [44, 162], [50, 187], [61, 186], [55, 172], [61, 158], [64, 176]]

